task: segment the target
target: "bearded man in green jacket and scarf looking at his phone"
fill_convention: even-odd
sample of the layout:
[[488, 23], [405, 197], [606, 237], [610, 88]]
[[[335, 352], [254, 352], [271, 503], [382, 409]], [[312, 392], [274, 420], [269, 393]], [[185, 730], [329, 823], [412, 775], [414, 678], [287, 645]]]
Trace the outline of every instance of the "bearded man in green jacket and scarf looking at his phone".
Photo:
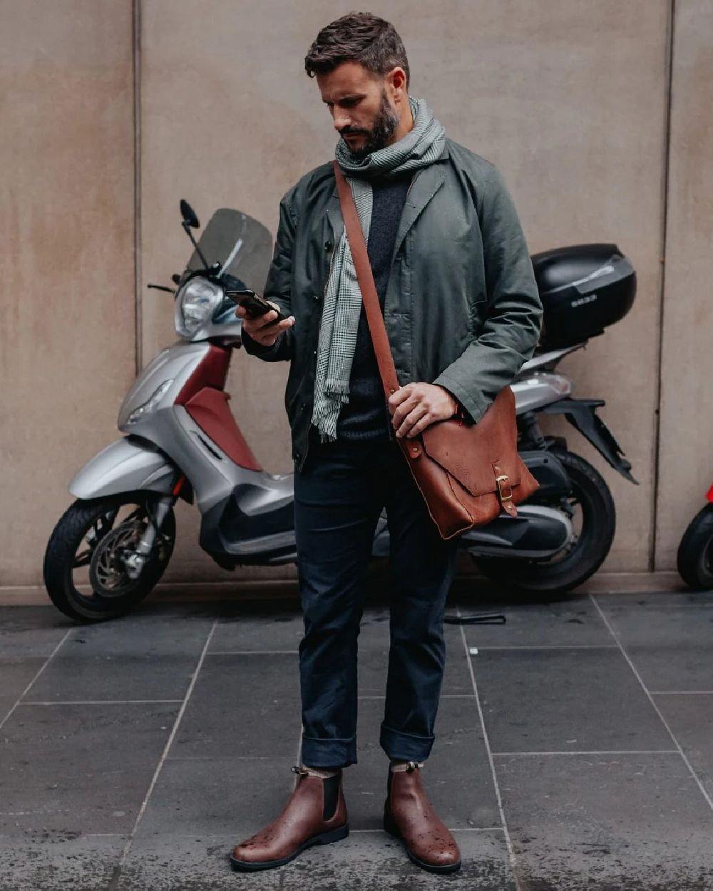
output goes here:
[[384, 828], [419, 866], [460, 866], [422, 787], [445, 660], [455, 568], [397, 438], [461, 413], [479, 418], [533, 352], [541, 321], [529, 252], [497, 169], [446, 138], [408, 94], [389, 22], [352, 13], [305, 60], [340, 134], [337, 159], [367, 241], [400, 388], [384, 396], [331, 163], [284, 196], [266, 298], [244, 345], [291, 362], [285, 406], [305, 634], [299, 647], [302, 764], [283, 813], [234, 848], [235, 869], [290, 861], [348, 834], [341, 770], [356, 764], [356, 640], [374, 527], [385, 506], [390, 650], [381, 748]]

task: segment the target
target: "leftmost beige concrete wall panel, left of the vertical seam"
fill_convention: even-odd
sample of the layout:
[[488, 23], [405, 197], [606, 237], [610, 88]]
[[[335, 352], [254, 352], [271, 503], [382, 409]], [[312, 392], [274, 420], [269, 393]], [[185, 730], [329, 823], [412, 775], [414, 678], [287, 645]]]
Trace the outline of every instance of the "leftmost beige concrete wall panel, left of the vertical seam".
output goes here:
[[131, 5], [2, 0], [0, 584], [37, 584], [135, 372]]

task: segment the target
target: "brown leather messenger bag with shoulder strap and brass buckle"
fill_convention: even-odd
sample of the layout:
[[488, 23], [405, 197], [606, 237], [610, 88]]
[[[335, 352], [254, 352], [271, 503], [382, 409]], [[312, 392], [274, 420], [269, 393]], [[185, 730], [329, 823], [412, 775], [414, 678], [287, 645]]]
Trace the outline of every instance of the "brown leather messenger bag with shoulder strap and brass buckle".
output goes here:
[[[362, 292], [381, 382], [387, 398], [399, 383], [373, 282], [364, 233], [347, 180], [334, 161], [341, 214]], [[517, 516], [516, 504], [539, 487], [517, 448], [515, 397], [504, 387], [477, 424], [449, 419], [398, 444], [442, 538], [482, 526], [500, 511]]]

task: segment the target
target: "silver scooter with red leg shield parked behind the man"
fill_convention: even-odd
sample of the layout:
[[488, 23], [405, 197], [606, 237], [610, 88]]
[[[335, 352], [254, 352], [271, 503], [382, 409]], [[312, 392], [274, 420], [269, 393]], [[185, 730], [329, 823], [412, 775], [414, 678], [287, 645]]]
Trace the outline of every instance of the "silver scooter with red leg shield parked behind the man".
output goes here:
[[[47, 593], [61, 612], [82, 622], [125, 614], [152, 591], [173, 551], [178, 498], [197, 504], [201, 547], [222, 568], [297, 558], [292, 475], [260, 466], [225, 393], [228, 366], [242, 339], [236, 298], [243, 290], [261, 290], [271, 236], [256, 220], [222, 208], [196, 242], [191, 230], [200, 224], [183, 200], [181, 214], [193, 255], [184, 273], [173, 276], [175, 289], [149, 286], [175, 295], [180, 339], [135, 380], [119, 411], [124, 437], [72, 480], [77, 500], [45, 552]], [[580, 265], [591, 266], [599, 263], [589, 256], [591, 247], [563, 250], [577, 250]], [[628, 474], [619, 446], [596, 415], [603, 403], [572, 399], [570, 380], [554, 371], [582, 346], [536, 356], [512, 385], [520, 454], [540, 483], [537, 496], [520, 505], [517, 519], [503, 514], [460, 539], [488, 576], [523, 591], [554, 593], [580, 584], [601, 565], [614, 535], [614, 505], [600, 474], [568, 452], [561, 438], [543, 436], [537, 423], [538, 413], [564, 413], [612, 466]], [[373, 556], [388, 553], [382, 515]]]

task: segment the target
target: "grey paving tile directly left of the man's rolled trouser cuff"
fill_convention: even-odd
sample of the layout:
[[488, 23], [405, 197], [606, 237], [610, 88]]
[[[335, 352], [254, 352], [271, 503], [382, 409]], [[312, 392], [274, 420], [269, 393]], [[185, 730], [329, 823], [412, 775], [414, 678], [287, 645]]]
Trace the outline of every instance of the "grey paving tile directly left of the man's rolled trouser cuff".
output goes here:
[[293, 759], [300, 725], [296, 655], [209, 654], [169, 756]]

